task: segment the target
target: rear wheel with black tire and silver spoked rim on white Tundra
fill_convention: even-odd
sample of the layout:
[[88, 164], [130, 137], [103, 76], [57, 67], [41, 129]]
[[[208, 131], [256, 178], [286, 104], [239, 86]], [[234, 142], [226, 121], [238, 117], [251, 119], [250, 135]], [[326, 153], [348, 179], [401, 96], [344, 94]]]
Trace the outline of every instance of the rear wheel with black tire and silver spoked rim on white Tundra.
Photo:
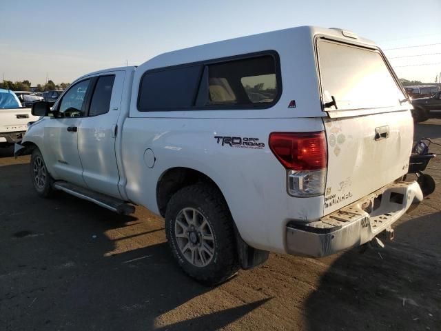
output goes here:
[[216, 285], [238, 272], [233, 219], [212, 185], [178, 190], [167, 204], [165, 232], [178, 265], [196, 281]]

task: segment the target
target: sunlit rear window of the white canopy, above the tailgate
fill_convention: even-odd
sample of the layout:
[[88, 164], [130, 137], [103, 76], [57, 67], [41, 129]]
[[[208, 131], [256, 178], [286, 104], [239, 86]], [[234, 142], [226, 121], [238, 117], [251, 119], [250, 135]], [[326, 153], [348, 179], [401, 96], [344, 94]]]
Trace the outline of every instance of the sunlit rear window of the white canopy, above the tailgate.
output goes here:
[[320, 39], [318, 58], [323, 101], [334, 97], [338, 110], [400, 106], [406, 99], [379, 52]]

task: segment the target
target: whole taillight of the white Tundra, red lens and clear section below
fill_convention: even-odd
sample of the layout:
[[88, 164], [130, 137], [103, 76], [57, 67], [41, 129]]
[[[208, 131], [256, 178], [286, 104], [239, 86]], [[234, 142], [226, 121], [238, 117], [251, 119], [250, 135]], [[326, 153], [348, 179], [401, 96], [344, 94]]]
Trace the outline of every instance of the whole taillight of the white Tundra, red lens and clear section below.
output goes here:
[[269, 148], [288, 170], [287, 191], [290, 195], [315, 197], [325, 193], [325, 132], [272, 132]]

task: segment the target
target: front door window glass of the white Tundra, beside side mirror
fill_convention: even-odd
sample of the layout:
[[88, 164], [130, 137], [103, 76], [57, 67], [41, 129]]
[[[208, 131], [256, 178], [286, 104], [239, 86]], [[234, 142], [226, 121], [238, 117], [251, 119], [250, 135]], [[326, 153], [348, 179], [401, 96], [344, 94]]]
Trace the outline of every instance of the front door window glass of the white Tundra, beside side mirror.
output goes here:
[[59, 112], [64, 117], [83, 117], [85, 94], [88, 92], [90, 79], [76, 83], [61, 99]]

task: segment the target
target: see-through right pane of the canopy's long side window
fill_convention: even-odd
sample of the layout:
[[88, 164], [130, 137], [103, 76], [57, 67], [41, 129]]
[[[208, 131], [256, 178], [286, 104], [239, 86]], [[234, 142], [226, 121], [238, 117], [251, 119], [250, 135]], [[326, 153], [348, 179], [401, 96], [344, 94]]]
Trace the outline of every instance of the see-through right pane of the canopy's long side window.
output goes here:
[[208, 65], [208, 72], [210, 105], [250, 105], [276, 99], [276, 66], [269, 55]]

